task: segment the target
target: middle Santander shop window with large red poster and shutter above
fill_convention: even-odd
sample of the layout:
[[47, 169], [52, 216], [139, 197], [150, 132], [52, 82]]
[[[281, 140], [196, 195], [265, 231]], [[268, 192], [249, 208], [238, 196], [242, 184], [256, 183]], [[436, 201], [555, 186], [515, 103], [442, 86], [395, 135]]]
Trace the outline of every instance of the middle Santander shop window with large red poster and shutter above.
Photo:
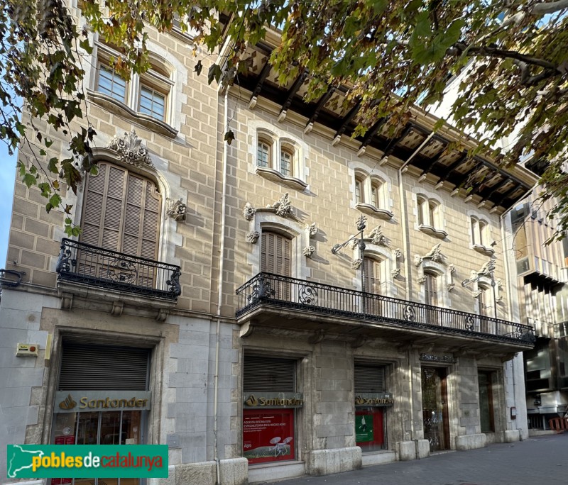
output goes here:
[[256, 355], [243, 361], [243, 456], [250, 464], [295, 459], [296, 361]]

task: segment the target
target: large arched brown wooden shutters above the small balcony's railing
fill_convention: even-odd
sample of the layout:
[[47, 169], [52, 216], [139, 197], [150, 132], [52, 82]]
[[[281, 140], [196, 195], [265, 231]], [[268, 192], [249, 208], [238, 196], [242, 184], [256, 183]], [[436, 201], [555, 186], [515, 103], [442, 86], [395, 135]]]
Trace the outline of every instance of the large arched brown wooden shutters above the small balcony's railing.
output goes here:
[[155, 260], [160, 195], [153, 182], [101, 162], [87, 179], [84, 200], [83, 243]]

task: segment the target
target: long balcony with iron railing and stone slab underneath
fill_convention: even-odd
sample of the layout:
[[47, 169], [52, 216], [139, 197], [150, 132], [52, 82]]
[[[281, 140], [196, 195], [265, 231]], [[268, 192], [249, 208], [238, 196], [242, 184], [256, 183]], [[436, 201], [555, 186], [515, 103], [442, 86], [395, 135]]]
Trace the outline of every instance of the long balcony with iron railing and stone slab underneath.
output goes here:
[[529, 325], [276, 274], [259, 273], [236, 294], [239, 324], [280, 332], [375, 337], [398, 344], [435, 342], [499, 353], [532, 349], [535, 342]]

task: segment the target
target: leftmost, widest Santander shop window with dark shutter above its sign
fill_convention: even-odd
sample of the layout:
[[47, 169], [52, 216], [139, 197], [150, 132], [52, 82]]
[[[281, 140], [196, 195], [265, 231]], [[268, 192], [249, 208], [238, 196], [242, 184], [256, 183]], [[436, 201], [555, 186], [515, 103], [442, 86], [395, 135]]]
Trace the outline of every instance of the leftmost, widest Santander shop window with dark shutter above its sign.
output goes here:
[[[143, 444], [152, 404], [148, 391], [150, 357], [151, 350], [146, 348], [64, 340], [50, 442]], [[138, 479], [125, 481], [130, 485], [140, 483]], [[53, 478], [50, 483], [119, 485], [120, 479]]]

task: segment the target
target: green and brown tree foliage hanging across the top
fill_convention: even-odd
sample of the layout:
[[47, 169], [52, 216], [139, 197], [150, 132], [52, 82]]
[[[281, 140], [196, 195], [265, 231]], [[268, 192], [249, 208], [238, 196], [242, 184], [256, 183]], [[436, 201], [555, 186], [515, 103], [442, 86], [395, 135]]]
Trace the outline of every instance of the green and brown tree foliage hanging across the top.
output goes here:
[[[546, 167], [542, 196], [559, 202], [551, 214], [557, 237], [568, 229], [568, 0], [80, 0], [79, 6], [80, 20], [65, 0], [3, 0], [0, 12], [0, 138], [11, 150], [26, 147], [18, 173], [28, 187], [39, 187], [46, 210], [67, 213], [67, 233], [79, 229], [62, 191], [75, 191], [84, 173], [97, 169], [83, 86], [92, 33], [118, 48], [114, 68], [128, 77], [149, 67], [150, 26], [167, 32], [175, 23], [197, 33], [195, 43], [209, 52], [207, 62], [196, 55], [195, 72], [223, 84], [239, 83], [251, 62], [247, 47], [261, 42], [269, 26], [278, 28], [270, 59], [278, 81], [287, 84], [307, 70], [306, 101], [330, 85], [347, 87], [345, 102], [361, 105], [354, 135], [386, 117], [397, 130], [413, 106], [442, 101], [454, 79], [451, 123], [479, 140], [476, 150], [505, 165], [532, 157]], [[48, 155], [54, 132], [68, 140], [65, 156]], [[228, 127], [225, 138], [232, 137]]]

